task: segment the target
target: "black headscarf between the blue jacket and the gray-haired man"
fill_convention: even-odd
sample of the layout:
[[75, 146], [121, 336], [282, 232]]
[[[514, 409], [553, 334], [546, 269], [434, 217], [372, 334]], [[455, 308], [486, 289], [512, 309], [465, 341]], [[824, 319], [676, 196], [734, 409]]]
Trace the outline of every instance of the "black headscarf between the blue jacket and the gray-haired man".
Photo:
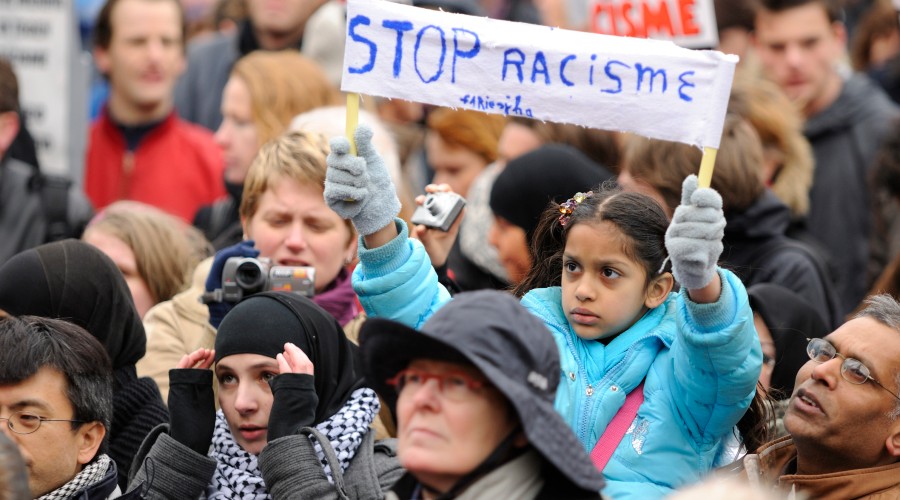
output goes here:
[[763, 323], [775, 341], [775, 369], [772, 389], [776, 399], [787, 399], [794, 392], [794, 381], [800, 367], [809, 361], [807, 338], [822, 338], [828, 328], [822, 317], [796, 293], [779, 285], [759, 283], [751, 286], [750, 308], [762, 316]]

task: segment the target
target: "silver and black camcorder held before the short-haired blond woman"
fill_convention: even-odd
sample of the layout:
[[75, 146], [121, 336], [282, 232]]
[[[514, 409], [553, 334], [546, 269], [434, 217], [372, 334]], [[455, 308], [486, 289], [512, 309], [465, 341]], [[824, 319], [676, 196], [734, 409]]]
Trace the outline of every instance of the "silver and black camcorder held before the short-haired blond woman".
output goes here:
[[315, 294], [316, 270], [308, 266], [273, 266], [269, 259], [231, 257], [222, 269], [222, 301], [240, 302], [257, 292]]

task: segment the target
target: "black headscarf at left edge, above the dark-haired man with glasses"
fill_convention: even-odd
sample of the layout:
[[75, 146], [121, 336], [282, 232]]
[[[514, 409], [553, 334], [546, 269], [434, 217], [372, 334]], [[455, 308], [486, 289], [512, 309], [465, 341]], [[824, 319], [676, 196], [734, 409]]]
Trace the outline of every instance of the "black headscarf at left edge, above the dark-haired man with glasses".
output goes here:
[[47, 243], [6, 261], [0, 309], [77, 324], [103, 344], [113, 369], [133, 366], [147, 349], [122, 273], [106, 254], [79, 240]]

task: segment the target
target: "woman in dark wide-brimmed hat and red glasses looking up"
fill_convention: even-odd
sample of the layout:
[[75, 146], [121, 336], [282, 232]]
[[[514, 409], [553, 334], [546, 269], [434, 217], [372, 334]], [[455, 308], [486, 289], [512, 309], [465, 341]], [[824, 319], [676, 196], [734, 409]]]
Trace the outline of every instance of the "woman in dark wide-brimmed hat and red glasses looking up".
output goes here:
[[553, 337], [511, 295], [457, 295], [421, 331], [370, 319], [360, 346], [408, 470], [387, 498], [600, 498], [602, 476], [553, 409]]

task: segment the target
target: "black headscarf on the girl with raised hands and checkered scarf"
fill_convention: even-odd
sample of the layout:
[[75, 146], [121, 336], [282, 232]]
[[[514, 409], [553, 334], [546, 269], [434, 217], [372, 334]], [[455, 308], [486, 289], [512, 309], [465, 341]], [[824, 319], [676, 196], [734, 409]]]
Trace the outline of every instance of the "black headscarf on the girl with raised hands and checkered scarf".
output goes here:
[[337, 413], [363, 385], [359, 349], [333, 316], [306, 297], [287, 292], [251, 295], [228, 312], [216, 332], [216, 362], [232, 354], [274, 358], [291, 342], [312, 361], [316, 408], [313, 425]]

